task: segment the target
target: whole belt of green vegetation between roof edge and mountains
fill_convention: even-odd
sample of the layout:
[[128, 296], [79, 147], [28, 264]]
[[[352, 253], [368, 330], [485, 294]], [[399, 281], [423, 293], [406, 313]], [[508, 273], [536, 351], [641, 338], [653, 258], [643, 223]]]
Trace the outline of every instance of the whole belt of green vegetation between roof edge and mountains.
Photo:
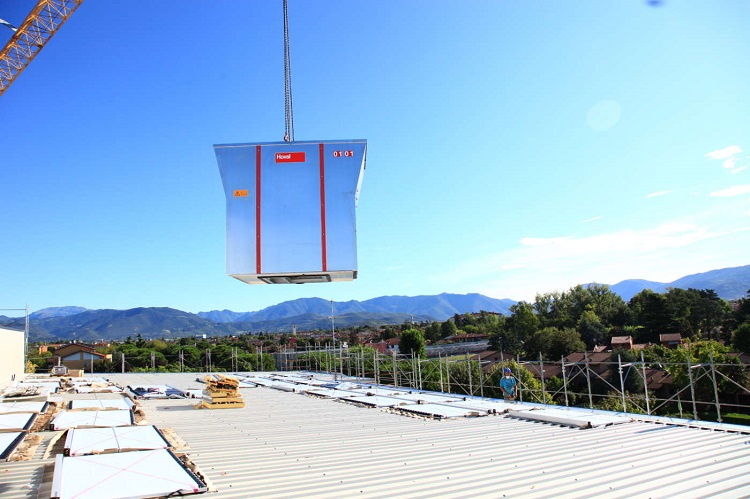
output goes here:
[[[660, 335], [665, 333], [678, 333], [681, 347], [662, 346]], [[343, 328], [337, 335], [336, 349], [331, 348], [330, 332], [324, 331], [295, 337], [243, 334], [177, 340], [146, 340], [137, 335], [98, 347], [109, 360], [95, 369], [120, 371], [124, 359], [126, 371], [274, 370], [272, 354], [289, 347], [296, 352], [291, 361], [284, 360], [287, 369], [342, 372], [384, 384], [500, 397], [497, 384], [501, 370], [510, 367], [525, 401], [635, 413], [695, 414], [710, 419], [717, 417], [713, 410], [716, 397], [723, 405], [740, 408], [750, 393], [746, 369], [737, 355], [750, 352], [750, 291], [733, 304], [711, 290], [696, 289], [671, 289], [664, 294], [645, 290], [625, 303], [607, 286], [576, 286], [567, 292], [537, 295], [533, 303], [519, 302], [507, 317], [490, 312], [456, 314], [444, 322], [408, 321], [377, 331]], [[473, 340], [475, 336], [489, 338], [490, 348], [501, 351], [505, 359], [523, 358], [530, 363], [519, 366], [506, 360], [487, 370], [466, 354], [427, 358], [427, 344]], [[537, 377], [542, 363], [560, 366], [563, 357], [609, 345], [614, 336], [630, 336], [641, 348], [617, 349], [605, 362], [599, 357], [601, 369], [597, 371], [590, 370], [587, 360], [569, 361], [564, 377], [559, 367], [543, 382]], [[378, 354], [369, 345], [369, 341], [391, 338], [399, 338], [401, 355]], [[361, 344], [365, 339], [368, 344]], [[310, 351], [304, 353], [307, 348]], [[27, 371], [44, 370], [51, 355], [30, 355]], [[527, 367], [531, 364], [537, 364], [539, 371], [530, 371]], [[649, 400], [644, 389], [646, 370], [670, 378], [660, 393], [649, 390]]]

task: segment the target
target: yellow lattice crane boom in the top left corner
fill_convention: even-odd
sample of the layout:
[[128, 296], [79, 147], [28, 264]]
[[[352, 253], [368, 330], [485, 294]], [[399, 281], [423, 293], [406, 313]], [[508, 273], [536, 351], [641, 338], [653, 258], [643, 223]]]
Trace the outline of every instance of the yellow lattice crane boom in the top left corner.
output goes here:
[[83, 0], [39, 0], [0, 52], [0, 95], [29, 65]]

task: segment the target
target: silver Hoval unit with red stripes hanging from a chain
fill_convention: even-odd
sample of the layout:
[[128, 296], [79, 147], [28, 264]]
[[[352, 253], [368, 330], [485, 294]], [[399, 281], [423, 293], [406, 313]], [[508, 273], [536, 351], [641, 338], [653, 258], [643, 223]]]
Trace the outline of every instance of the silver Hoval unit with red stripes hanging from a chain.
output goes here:
[[214, 146], [227, 206], [227, 274], [249, 284], [357, 278], [366, 140]]

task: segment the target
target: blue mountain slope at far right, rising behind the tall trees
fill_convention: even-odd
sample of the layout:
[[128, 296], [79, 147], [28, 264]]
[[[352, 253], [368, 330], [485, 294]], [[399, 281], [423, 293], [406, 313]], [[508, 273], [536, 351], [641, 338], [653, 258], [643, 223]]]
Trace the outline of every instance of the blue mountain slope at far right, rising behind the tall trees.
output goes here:
[[666, 293], [670, 288], [713, 289], [724, 300], [739, 300], [750, 290], [750, 265], [726, 269], [709, 270], [700, 274], [681, 277], [669, 283], [628, 279], [610, 286], [623, 300], [629, 301], [644, 289]]

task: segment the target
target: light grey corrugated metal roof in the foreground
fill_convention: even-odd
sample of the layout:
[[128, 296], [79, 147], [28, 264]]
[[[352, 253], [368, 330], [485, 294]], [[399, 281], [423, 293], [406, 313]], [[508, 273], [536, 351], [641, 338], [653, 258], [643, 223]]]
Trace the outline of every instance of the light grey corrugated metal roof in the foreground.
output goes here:
[[[196, 377], [110, 379], [187, 389], [200, 386]], [[729, 425], [644, 418], [578, 429], [504, 414], [428, 419], [269, 387], [241, 392], [241, 409], [140, 401], [148, 424], [187, 443], [217, 491], [211, 497], [750, 496], [750, 435], [722, 430], [738, 429]], [[0, 496], [37, 497], [45, 462], [0, 463]]]

